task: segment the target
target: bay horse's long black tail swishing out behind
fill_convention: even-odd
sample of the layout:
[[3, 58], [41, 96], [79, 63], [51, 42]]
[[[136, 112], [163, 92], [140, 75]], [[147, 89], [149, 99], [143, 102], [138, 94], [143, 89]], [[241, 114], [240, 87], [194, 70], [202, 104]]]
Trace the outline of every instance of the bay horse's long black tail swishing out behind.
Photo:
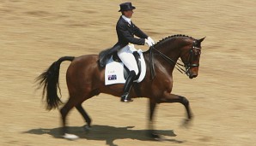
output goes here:
[[36, 81], [39, 81], [40, 87], [44, 86], [43, 98], [46, 96], [46, 109], [51, 110], [52, 108], [58, 108], [58, 105], [62, 103], [57, 93], [58, 90], [61, 95], [58, 85], [60, 64], [62, 61], [73, 61], [74, 59], [74, 56], [61, 57], [58, 61], [53, 62], [46, 72], [41, 73], [40, 76], [37, 77]]

